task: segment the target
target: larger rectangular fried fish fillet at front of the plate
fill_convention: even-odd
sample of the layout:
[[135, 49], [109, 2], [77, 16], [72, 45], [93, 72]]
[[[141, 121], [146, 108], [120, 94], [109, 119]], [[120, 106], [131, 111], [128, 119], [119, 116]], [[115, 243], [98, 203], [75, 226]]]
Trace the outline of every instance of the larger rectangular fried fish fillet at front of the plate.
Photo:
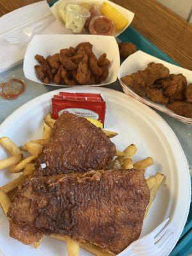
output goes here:
[[31, 177], [8, 211], [10, 236], [30, 244], [67, 235], [120, 253], [140, 236], [149, 199], [143, 172], [134, 169]]

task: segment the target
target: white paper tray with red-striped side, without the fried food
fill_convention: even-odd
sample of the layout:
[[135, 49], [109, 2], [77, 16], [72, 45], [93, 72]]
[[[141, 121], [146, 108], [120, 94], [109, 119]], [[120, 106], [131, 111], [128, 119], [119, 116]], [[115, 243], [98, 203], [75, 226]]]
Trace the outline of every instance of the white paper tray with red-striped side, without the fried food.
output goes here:
[[143, 102], [147, 104], [148, 106], [152, 108], [156, 108], [159, 111], [165, 113], [166, 115], [172, 116], [173, 118], [184, 122], [185, 124], [192, 124], [192, 118], [187, 118], [184, 116], [179, 116], [175, 113], [173, 113], [172, 110], [166, 108], [166, 106], [159, 104], [159, 103], [154, 103], [151, 100], [147, 99], [146, 97], [140, 97], [138, 94], [134, 93], [129, 86], [126, 86], [122, 81], [121, 78], [127, 75], [130, 75], [134, 72], [138, 72], [138, 70], [143, 70], [147, 67], [147, 64], [149, 62], [155, 62], [155, 63], [162, 63], [165, 67], [169, 68], [170, 74], [183, 74], [187, 81], [188, 84], [192, 83], [192, 71], [188, 70], [186, 68], [181, 68], [176, 65], [170, 64], [166, 61], [160, 60], [154, 56], [151, 56], [145, 52], [138, 51], [129, 56], [122, 65], [120, 66], [120, 70], [118, 71], [118, 79], [120, 81], [120, 84], [122, 85], [122, 88], [124, 92], [131, 96], [134, 97], [135, 99], [139, 100], [140, 102]]

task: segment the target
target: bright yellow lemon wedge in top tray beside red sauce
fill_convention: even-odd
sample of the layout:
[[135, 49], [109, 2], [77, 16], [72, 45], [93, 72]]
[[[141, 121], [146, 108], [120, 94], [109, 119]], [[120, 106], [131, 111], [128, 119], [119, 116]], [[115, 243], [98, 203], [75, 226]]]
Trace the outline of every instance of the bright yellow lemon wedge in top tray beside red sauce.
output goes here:
[[128, 20], [125, 18], [125, 16], [118, 12], [118, 10], [111, 6], [111, 4], [103, 2], [102, 7], [100, 8], [100, 12], [102, 15], [113, 21], [115, 25], [115, 31], [124, 29], [128, 24]]

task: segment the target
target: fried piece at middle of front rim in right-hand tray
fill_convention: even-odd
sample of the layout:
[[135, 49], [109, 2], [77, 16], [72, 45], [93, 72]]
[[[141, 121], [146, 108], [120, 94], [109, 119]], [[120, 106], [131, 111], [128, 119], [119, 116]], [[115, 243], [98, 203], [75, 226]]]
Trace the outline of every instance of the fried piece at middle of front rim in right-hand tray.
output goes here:
[[160, 104], [167, 104], [169, 100], [168, 97], [164, 96], [161, 90], [158, 90], [156, 88], [147, 88], [146, 96], [148, 97], [148, 99], [152, 100], [152, 102]]

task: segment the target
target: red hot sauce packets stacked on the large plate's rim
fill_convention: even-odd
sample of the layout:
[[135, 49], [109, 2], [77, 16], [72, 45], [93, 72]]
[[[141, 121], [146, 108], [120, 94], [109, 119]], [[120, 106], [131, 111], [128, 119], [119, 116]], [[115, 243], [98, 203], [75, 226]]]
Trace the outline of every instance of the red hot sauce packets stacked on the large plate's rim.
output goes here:
[[58, 119], [63, 112], [93, 118], [104, 124], [106, 102], [96, 93], [60, 92], [52, 99], [52, 118]]

